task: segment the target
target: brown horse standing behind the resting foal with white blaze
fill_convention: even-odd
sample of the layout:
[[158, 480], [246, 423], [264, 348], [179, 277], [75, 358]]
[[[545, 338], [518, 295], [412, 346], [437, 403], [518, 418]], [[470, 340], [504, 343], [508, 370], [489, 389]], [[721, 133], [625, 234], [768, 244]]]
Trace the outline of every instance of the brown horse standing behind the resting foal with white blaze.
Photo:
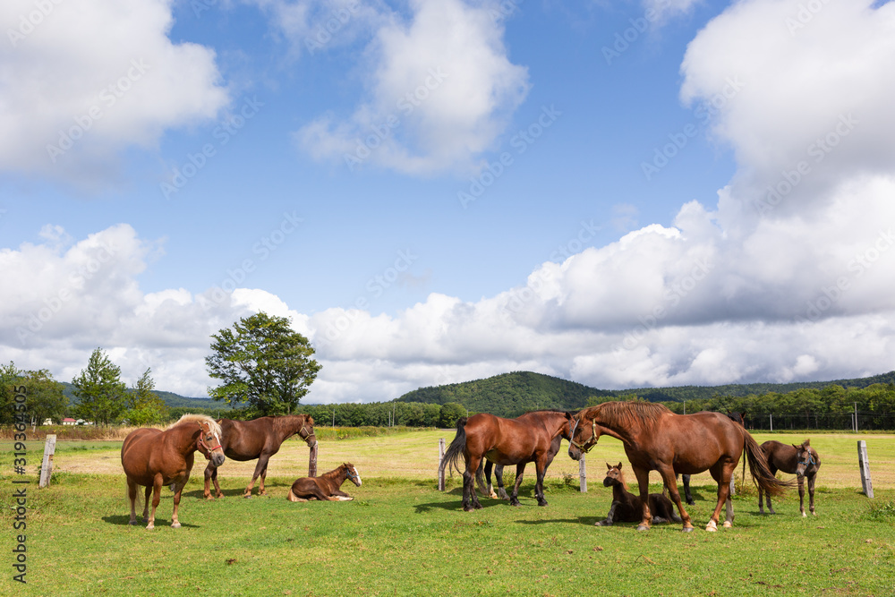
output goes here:
[[[298, 433], [304, 439], [309, 448], [317, 443], [314, 435], [314, 420], [308, 414], [287, 414], [278, 417], [260, 417], [252, 421], [234, 421], [221, 419], [223, 435], [221, 445], [227, 458], [244, 462], [258, 458], [255, 472], [251, 475], [251, 482], [243, 491], [243, 498], [251, 498], [251, 489], [255, 485], [255, 479], [260, 477], [258, 495], [267, 495], [264, 490], [264, 479], [268, 476], [268, 460], [270, 456], [277, 454], [280, 445], [287, 439]], [[210, 483], [214, 482], [216, 498], [222, 497], [220, 485], [217, 484], [217, 467], [209, 463], [205, 467], [205, 499], [211, 498]]]

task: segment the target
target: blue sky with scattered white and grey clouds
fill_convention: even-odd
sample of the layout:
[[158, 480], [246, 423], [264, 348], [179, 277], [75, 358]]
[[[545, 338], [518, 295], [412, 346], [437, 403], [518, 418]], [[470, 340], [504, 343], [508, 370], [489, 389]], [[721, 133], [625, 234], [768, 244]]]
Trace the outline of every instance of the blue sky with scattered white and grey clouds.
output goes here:
[[0, 10], [4, 362], [202, 396], [265, 310], [310, 402], [892, 368], [891, 4], [38, 4]]

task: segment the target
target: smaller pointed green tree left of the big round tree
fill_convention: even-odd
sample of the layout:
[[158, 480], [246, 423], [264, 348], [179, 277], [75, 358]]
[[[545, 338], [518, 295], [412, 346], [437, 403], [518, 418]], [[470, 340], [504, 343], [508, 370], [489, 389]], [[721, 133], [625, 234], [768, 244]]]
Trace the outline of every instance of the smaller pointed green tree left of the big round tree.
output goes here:
[[82, 419], [108, 425], [117, 421], [127, 407], [121, 368], [100, 348], [90, 354], [87, 369], [72, 380], [72, 385], [79, 400], [74, 413]]

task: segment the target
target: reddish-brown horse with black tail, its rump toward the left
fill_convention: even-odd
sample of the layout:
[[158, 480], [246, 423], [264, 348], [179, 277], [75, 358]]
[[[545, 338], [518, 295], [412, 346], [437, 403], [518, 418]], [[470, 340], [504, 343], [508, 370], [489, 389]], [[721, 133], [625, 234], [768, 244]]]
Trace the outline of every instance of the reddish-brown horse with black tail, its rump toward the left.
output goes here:
[[[558, 448], [552, 450], [554, 440], [560, 434], [569, 434], [572, 414], [563, 411], [534, 411], [516, 419], [504, 419], [493, 414], [473, 414], [456, 422], [456, 437], [447, 447], [439, 465], [439, 474], [450, 466], [458, 473], [460, 456], [465, 460], [463, 473], [463, 509], [467, 512], [479, 509], [475, 495], [473, 475], [481, 479], [482, 458], [497, 465], [516, 465], [516, 485], [510, 496], [510, 504], [519, 506], [519, 485], [522, 484], [525, 465], [534, 462], [537, 482], [534, 497], [539, 506], [547, 506], [544, 499], [544, 473], [553, 461]], [[480, 485], [482, 483], [480, 482]]]

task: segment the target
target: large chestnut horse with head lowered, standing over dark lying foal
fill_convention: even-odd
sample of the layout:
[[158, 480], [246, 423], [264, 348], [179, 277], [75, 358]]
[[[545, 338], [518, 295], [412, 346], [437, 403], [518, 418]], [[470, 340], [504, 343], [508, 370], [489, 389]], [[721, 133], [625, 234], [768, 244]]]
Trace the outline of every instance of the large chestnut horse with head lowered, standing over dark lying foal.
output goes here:
[[743, 427], [720, 413], [674, 414], [665, 405], [649, 402], [606, 402], [585, 408], [575, 415], [568, 455], [579, 460], [597, 444], [601, 434], [620, 439], [640, 486], [643, 518], [638, 531], [649, 530], [650, 471], [657, 470], [678, 507], [685, 532], [693, 530], [690, 516], [680, 503], [675, 472], [695, 474], [708, 470], [718, 482], [718, 504], [706, 525], [717, 531], [721, 504], [727, 504], [725, 527], [733, 525], [730, 477], [746, 452], [754, 482], [779, 495], [791, 482], [781, 482], [771, 473], [758, 443]]

